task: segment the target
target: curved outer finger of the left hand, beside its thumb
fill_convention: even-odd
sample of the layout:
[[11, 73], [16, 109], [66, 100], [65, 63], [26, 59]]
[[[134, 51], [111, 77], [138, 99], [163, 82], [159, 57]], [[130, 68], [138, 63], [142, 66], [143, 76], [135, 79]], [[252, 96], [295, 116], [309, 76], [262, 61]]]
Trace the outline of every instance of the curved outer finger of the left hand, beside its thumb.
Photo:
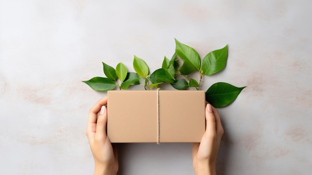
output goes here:
[[103, 105], [107, 104], [107, 97], [100, 99], [89, 111], [86, 134], [88, 139], [94, 137], [98, 112]]

